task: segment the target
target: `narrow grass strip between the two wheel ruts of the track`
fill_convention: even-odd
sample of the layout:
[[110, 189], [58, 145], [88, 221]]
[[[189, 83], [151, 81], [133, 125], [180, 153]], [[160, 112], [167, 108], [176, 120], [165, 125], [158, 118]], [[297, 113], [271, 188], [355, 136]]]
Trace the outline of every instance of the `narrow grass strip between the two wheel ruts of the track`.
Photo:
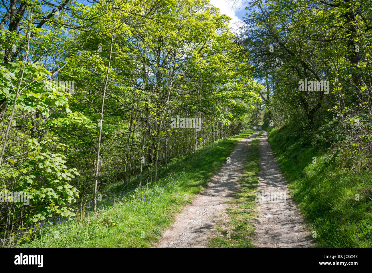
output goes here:
[[[254, 227], [251, 221], [257, 216], [254, 208], [258, 181], [260, 173], [258, 142], [259, 135], [252, 139], [249, 154], [247, 156], [244, 176], [239, 181], [238, 192], [228, 202], [227, 209], [229, 221], [219, 223], [217, 230], [221, 232], [209, 243], [210, 247], [254, 247], [251, 238], [254, 236]], [[230, 237], [229, 237], [230, 236]]]

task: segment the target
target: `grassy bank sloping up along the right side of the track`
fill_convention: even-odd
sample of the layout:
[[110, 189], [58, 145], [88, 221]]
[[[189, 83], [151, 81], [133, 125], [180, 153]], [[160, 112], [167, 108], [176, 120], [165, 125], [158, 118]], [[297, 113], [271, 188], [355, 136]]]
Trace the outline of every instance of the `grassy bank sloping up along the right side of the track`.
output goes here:
[[269, 142], [317, 245], [371, 247], [371, 172], [341, 168], [336, 154], [321, 153], [295, 126], [272, 129]]

